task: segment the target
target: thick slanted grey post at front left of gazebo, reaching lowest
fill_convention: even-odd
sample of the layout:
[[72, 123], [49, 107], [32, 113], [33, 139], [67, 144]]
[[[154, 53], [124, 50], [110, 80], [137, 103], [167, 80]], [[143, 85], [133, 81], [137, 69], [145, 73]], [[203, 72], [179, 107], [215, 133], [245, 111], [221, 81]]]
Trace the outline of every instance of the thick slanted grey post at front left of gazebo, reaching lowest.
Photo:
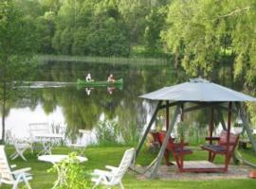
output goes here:
[[168, 144], [168, 141], [170, 139], [171, 132], [174, 129], [174, 124], [176, 122], [177, 115], [178, 115], [178, 113], [180, 111], [180, 107], [181, 107], [181, 104], [178, 104], [176, 106], [176, 109], [175, 109], [175, 112], [174, 112], [174, 117], [172, 119], [170, 127], [166, 131], [166, 137], [165, 137], [164, 142], [163, 142], [163, 144], [162, 144], [162, 146], [160, 148], [160, 151], [159, 151], [159, 153], [158, 153], [158, 155], [156, 157], [156, 162], [155, 162], [155, 164], [153, 166], [153, 170], [151, 172], [150, 178], [155, 178], [156, 172], [157, 172], [157, 170], [159, 168], [159, 165], [162, 162], [162, 159], [163, 159], [163, 156], [164, 156], [164, 151], [165, 151], [166, 146]]

